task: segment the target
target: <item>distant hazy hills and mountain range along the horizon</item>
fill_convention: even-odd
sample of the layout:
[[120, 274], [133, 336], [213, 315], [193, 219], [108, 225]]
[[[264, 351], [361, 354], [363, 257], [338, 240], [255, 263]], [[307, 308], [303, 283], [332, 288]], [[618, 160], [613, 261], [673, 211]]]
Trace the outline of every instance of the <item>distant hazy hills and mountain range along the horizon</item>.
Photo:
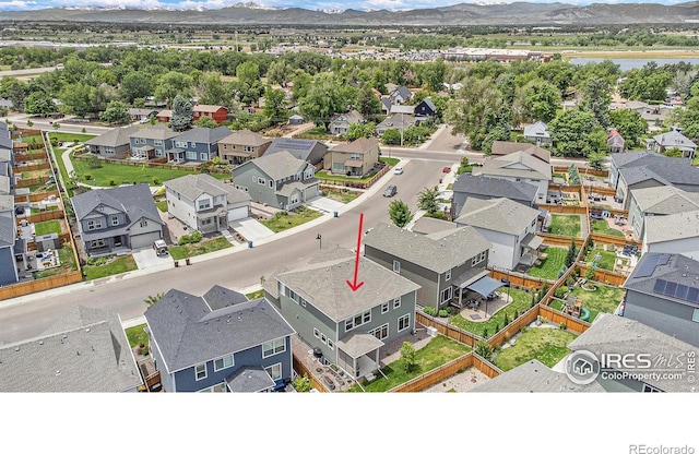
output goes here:
[[270, 24], [270, 25], [625, 25], [682, 24], [699, 21], [699, 2], [657, 3], [472, 4], [411, 11], [311, 11], [301, 8], [263, 8], [240, 3], [218, 10], [133, 10], [55, 8], [5, 11], [0, 22], [67, 21], [165, 24]]

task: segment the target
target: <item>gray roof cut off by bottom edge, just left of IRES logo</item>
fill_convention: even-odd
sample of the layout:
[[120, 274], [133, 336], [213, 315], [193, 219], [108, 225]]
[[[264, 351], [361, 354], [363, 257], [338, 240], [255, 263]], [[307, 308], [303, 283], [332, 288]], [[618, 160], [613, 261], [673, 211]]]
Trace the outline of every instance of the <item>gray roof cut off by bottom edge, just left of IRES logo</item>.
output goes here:
[[573, 383], [564, 372], [554, 371], [538, 360], [532, 359], [475, 386], [470, 392], [600, 393], [605, 390], [596, 381], [590, 384]]

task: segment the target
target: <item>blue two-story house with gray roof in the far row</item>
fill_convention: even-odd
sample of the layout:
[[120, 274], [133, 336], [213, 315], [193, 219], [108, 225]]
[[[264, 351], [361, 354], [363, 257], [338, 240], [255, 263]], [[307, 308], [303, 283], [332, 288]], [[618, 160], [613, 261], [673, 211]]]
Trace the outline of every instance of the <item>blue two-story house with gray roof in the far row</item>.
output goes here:
[[218, 141], [233, 134], [226, 127], [192, 128], [173, 139], [168, 160], [206, 163], [218, 156]]

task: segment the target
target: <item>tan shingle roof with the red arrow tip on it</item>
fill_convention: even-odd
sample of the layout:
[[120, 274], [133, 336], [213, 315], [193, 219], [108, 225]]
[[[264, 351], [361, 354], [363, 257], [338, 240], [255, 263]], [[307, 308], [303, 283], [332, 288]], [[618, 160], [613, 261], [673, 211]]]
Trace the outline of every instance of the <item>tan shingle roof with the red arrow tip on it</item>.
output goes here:
[[311, 259], [309, 264], [294, 271], [281, 271], [275, 278], [335, 322], [419, 288], [419, 285], [391, 270], [360, 256], [357, 282], [364, 282], [364, 285], [353, 291], [347, 280], [353, 279], [355, 258], [346, 250], [344, 255], [322, 262]]

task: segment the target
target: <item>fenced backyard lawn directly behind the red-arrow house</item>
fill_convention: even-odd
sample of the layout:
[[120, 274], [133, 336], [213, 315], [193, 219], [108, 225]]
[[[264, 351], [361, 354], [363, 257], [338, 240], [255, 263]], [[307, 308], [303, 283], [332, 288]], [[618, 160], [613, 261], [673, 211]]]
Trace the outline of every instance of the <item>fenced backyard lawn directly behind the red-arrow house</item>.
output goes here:
[[[378, 374], [378, 379], [371, 383], [364, 385], [365, 391], [370, 393], [382, 393], [391, 390], [399, 384], [405, 383], [416, 377], [419, 377], [430, 370], [438, 368], [453, 359], [459, 358], [467, 354], [471, 350], [470, 347], [452, 340], [446, 336], [437, 336], [429, 342], [426, 346], [420, 348], [415, 354], [415, 367], [412, 371], [406, 372], [403, 366], [403, 359], [391, 362], [389, 366], [381, 369], [382, 377]], [[360, 392], [362, 389], [356, 384], [350, 389], [350, 392]]]

